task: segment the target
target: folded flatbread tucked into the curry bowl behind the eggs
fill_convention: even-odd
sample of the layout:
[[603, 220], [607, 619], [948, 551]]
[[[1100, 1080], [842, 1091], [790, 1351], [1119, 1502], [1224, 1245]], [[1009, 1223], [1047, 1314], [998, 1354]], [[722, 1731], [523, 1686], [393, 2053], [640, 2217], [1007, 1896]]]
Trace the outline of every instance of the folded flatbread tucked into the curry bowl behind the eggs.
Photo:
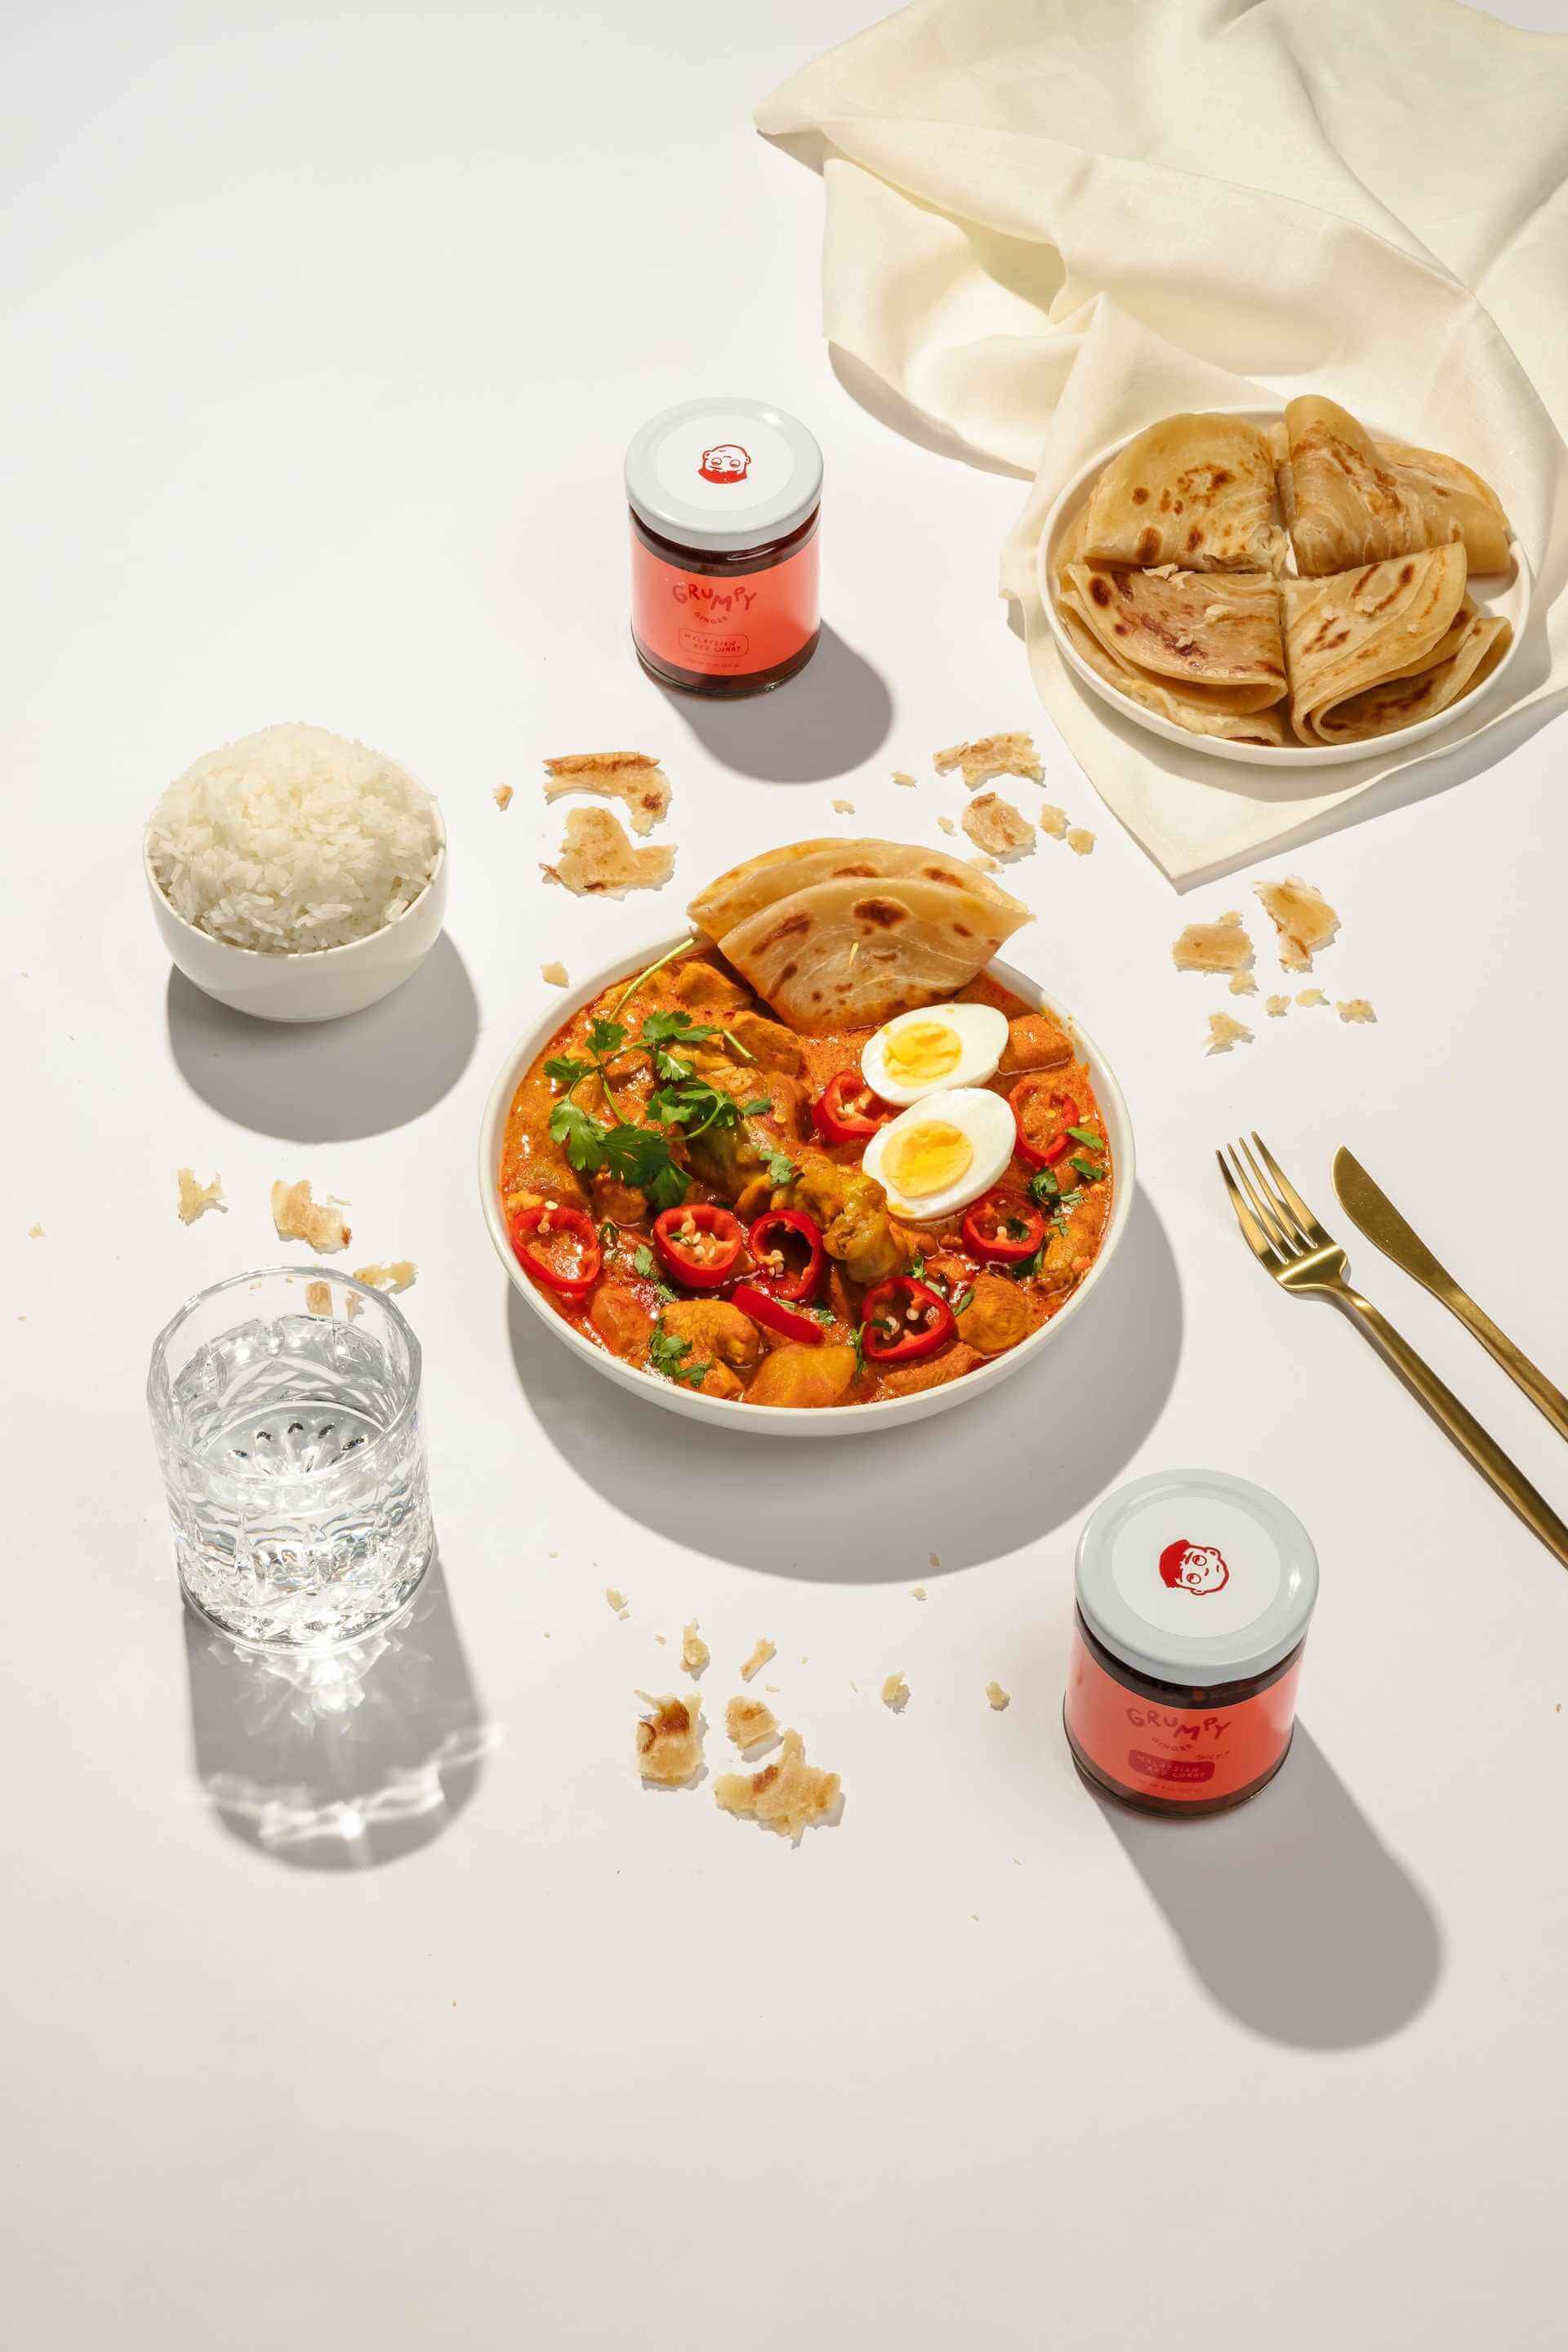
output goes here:
[[877, 1028], [964, 988], [1027, 906], [940, 849], [792, 842], [719, 875], [686, 908], [792, 1030]]

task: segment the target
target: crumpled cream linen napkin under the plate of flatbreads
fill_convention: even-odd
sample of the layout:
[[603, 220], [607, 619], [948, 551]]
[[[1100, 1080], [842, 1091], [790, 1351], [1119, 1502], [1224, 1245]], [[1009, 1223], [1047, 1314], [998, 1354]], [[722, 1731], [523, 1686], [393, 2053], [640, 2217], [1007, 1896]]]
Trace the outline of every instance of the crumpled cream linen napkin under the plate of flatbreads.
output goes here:
[[[1034, 475], [1001, 590], [1060, 734], [1173, 882], [1399, 769], [1422, 771], [1399, 797], [1472, 774], [1568, 699], [1568, 35], [1450, 0], [917, 0], [757, 127], [823, 162], [830, 341]], [[1269, 771], [1081, 689], [1034, 548], [1117, 435], [1298, 390], [1476, 466], [1535, 619], [1497, 696], [1418, 753]]]

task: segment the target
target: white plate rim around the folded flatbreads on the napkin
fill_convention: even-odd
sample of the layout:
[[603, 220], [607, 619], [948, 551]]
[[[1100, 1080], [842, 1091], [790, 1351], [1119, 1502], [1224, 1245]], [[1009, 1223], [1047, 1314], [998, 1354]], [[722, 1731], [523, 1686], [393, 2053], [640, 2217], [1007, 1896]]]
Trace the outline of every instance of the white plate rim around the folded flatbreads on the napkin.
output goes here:
[[[1253, 426], [1279, 423], [1281, 409], [1222, 409], [1225, 416], [1244, 416]], [[1387, 426], [1368, 423], [1373, 440], [1401, 440], [1403, 435], [1392, 433]], [[1472, 691], [1462, 694], [1458, 703], [1448, 703], [1446, 710], [1436, 710], [1429, 720], [1415, 720], [1413, 727], [1396, 727], [1385, 736], [1363, 736], [1359, 743], [1229, 743], [1225, 736], [1199, 736], [1178, 727], [1175, 720], [1166, 720], [1159, 710], [1145, 710], [1135, 703], [1131, 694], [1121, 694], [1107, 677], [1084, 661], [1079, 649], [1072, 644], [1067, 630], [1063, 628], [1063, 616], [1056, 609], [1056, 550], [1067, 536], [1067, 524], [1077, 520], [1079, 508], [1088, 499], [1088, 489], [1110, 459], [1119, 449], [1126, 449], [1135, 433], [1124, 433], [1121, 440], [1107, 442], [1098, 456], [1091, 456], [1086, 466], [1079, 466], [1074, 477], [1060, 489], [1051, 513], [1044, 520], [1037, 567], [1039, 567], [1039, 595], [1046, 607], [1046, 621], [1051, 623], [1051, 635], [1056, 637], [1056, 649], [1074, 673], [1081, 677], [1091, 694], [1098, 694], [1103, 703], [1119, 710], [1124, 720], [1133, 727], [1143, 727], [1145, 734], [1164, 736], [1166, 743], [1180, 743], [1182, 750], [1201, 750], [1211, 760], [1241, 760], [1246, 767], [1345, 767], [1347, 760], [1387, 760], [1392, 753], [1401, 753], [1408, 743], [1420, 743], [1422, 736], [1439, 734], [1443, 727], [1453, 727], [1472, 703], [1481, 696], [1493, 694], [1519, 656], [1523, 644], [1523, 633], [1530, 623], [1533, 602], [1533, 576], [1523, 548], [1516, 539], [1509, 539], [1514, 553], [1512, 572], [1483, 572], [1469, 581], [1469, 595], [1476, 600], [1481, 612], [1500, 614], [1505, 621], [1514, 623], [1514, 640], [1497, 663], [1497, 668]], [[1225, 574], [1215, 572], [1215, 581]]]

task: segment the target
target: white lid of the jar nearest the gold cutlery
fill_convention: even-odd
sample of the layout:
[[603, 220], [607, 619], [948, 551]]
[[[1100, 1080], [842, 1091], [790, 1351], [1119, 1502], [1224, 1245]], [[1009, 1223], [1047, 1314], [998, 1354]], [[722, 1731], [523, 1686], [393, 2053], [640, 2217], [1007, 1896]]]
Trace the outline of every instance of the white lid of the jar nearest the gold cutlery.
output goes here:
[[1279, 1665], [1316, 1602], [1293, 1510], [1222, 1470], [1164, 1470], [1110, 1494], [1079, 1536], [1088, 1630], [1154, 1682], [1208, 1686]]

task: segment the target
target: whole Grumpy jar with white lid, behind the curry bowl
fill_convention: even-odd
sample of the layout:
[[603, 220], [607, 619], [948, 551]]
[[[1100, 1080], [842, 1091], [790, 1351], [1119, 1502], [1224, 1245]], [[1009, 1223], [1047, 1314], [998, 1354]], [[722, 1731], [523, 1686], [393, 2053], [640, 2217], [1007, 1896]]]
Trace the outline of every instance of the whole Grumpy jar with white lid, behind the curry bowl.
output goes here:
[[686, 400], [625, 452], [632, 644], [663, 687], [766, 694], [820, 637], [823, 452], [762, 400]]

